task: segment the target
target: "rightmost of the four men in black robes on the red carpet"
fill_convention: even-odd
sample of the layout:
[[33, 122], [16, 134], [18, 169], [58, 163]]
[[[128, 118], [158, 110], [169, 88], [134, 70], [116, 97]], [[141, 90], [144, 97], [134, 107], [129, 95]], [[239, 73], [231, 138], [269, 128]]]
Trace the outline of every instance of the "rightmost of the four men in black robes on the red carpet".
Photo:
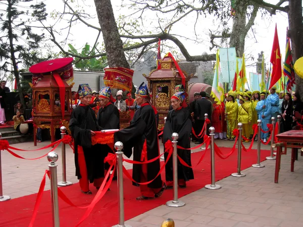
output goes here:
[[[184, 108], [185, 94], [184, 92], [176, 92], [171, 97], [171, 105], [173, 110], [168, 112], [168, 117], [163, 130], [164, 144], [168, 140], [172, 140], [172, 134], [178, 133], [178, 145], [183, 148], [190, 148], [191, 133], [191, 116], [189, 111]], [[181, 105], [181, 103], [183, 103]], [[186, 103], [185, 103], [186, 104]], [[165, 148], [164, 148], [165, 149]], [[190, 150], [179, 149], [177, 151], [180, 158], [191, 166]], [[165, 161], [168, 154], [164, 153]], [[171, 156], [165, 165], [165, 178], [167, 188], [173, 188], [173, 157]], [[178, 160], [178, 185], [180, 188], [186, 187], [186, 181], [193, 179], [192, 168], [186, 167]]]

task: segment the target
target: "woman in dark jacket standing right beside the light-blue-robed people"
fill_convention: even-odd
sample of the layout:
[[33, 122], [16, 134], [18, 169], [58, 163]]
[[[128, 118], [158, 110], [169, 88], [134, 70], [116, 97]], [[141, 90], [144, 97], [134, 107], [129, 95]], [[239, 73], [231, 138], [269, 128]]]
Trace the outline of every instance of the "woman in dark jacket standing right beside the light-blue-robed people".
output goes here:
[[292, 116], [293, 116], [293, 108], [292, 108], [292, 99], [289, 92], [285, 94], [284, 101], [281, 107], [282, 111], [282, 132], [286, 132], [291, 130], [292, 126]]

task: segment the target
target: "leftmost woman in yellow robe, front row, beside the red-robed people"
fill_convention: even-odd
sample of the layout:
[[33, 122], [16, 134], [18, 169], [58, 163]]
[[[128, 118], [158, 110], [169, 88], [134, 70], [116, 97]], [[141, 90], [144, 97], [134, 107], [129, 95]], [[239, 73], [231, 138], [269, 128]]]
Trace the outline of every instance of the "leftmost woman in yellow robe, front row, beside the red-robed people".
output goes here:
[[228, 93], [228, 102], [226, 102], [226, 123], [227, 123], [227, 138], [225, 140], [235, 140], [232, 131], [237, 127], [238, 103], [235, 101], [236, 94]]

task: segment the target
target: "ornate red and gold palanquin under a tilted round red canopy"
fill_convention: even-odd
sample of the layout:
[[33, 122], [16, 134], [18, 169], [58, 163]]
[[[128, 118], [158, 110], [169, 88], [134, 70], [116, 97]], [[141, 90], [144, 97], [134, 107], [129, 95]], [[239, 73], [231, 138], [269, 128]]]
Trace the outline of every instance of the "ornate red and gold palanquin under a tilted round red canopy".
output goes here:
[[30, 67], [33, 73], [31, 84], [33, 93], [32, 117], [34, 124], [34, 145], [37, 128], [49, 129], [52, 143], [55, 142], [56, 129], [65, 126], [69, 130], [71, 119], [71, 89], [73, 58], [54, 59]]

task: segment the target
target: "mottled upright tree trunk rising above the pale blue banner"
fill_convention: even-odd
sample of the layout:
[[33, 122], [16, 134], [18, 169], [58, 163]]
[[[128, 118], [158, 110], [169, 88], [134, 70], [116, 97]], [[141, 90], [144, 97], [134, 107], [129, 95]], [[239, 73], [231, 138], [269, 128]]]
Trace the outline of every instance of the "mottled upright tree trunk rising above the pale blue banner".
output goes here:
[[230, 34], [230, 47], [236, 47], [236, 54], [238, 57], [242, 57], [244, 53], [245, 36], [246, 32], [246, 9], [247, 6], [244, 1], [237, 1], [236, 11], [233, 19], [232, 30]]

